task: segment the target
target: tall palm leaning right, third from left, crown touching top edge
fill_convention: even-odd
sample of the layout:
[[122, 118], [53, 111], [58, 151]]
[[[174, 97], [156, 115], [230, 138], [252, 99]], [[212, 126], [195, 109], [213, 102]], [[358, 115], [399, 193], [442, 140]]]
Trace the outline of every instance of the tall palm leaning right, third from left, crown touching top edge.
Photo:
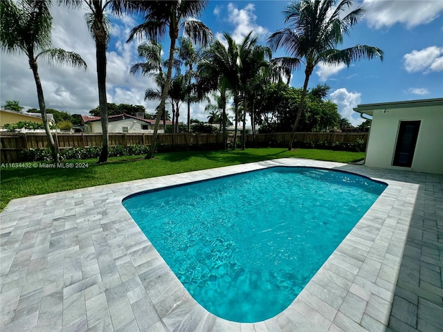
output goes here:
[[175, 44], [179, 38], [180, 29], [184, 30], [192, 42], [206, 45], [212, 33], [210, 29], [197, 17], [208, 4], [208, 0], [170, 0], [170, 1], [136, 1], [139, 9], [144, 13], [144, 22], [132, 29], [127, 42], [132, 41], [134, 37], [143, 37], [159, 41], [165, 36], [166, 30], [169, 30], [170, 52], [168, 59], [168, 72], [165, 77], [165, 88], [162, 91], [161, 101], [157, 107], [157, 117], [154, 127], [154, 137], [150, 151], [145, 158], [152, 158], [156, 144], [157, 131], [161, 113], [165, 110], [165, 102], [168, 98], [170, 82], [172, 79], [172, 67], [174, 65]]

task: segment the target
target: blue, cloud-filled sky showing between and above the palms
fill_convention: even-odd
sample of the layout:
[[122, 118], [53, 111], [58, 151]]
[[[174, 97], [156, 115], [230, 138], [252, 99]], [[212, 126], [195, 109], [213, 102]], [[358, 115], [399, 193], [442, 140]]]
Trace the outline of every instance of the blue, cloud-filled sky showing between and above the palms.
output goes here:
[[[55, 1], [53, 1], [55, 2]], [[289, 1], [217, 1], [210, 0], [197, 19], [203, 21], [215, 38], [223, 33], [240, 42], [253, 30], [258, 42], [266, 45], [271, 33], [284, 28], [283, 10]], [[354, 125], [363, 120], [352, 108], [357, 104], [443, 98], [443, 1], [441, 0], [363, 0], [365, 16], [345, 36], [338, 48], [356, 44], [377, 46], [384, 59], [361, 60], [346, 66], [319, 64], [308, 88], [317, 84], [330, 86], [327, 99], [338, 105], [338, 112]], [[96, 50], [84, 21], [85, 9], [53, 5], [53, 46], [79, 53], [87, 62], [86, 71], [39, 61], [46, 107], [87, 115], [98, 107]], [[107, 50], [107, 100], [116, 104], [141, 104], [154, 113], [159, 102], [145, 101], [145, 89], [156, 87], [150, 77], [131, 75], [137, 62], [137, 46], [143, 40], [126, 43], [129, 31], [140, 23], [137, 17], [110, 17], [111, 40]], [[168, 37], [167, 37], [168, 38]], [[165, 54], [169, 43], [164, 41]], [[275, 50], [273, 57], [286, 56]], [[293, 71], [289, 84], [301, 88], [304, 66]], [[18, 100], [25, 110], [38, 108], [33, 73], [25, 55], [0, 53], [0, 104]], [[206, 103], [191, 105], [191, 118], [208, 119]], [[168, 108], [168, 105], [167, 105]], [[181, 107], [186, 122], [186, 105]]]

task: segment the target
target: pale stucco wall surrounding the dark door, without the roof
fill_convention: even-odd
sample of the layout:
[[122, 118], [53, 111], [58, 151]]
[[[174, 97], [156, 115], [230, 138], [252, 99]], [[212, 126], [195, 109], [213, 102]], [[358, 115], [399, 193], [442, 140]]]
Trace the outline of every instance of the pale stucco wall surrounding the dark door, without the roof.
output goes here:
[[[400, 121], [420, 120], [412, 167], [392, 166]], [[443, 174], [441, 106], [374, 110], [365, 165]]]

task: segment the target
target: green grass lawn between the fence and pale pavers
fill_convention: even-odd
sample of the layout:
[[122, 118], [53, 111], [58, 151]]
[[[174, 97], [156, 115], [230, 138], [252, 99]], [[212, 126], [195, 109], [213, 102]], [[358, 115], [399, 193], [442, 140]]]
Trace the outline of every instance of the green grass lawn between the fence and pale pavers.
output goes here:
[[350, 163], [364, 158], [364, 152], [282, 148], [235, 151], [186, 151], [156, 154], [150, 160], [143, 156], [109, 158], [98, 165], [96, 159], [69, 160], [87, 163], [87, 168], [1, 168], [1, 203], [3, 210], [11, 199], [106, 185], [140, 178], [152, 178], [228, 165], [252, 163], [275, 158], [296, 157]]

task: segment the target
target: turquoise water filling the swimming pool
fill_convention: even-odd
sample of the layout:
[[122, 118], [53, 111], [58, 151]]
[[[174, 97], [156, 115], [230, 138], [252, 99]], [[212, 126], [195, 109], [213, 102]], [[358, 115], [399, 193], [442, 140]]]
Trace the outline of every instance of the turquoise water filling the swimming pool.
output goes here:
[[201, 306], [258, 322], [293, 302], [385, 188], [345, 172], [271, 167], [123, 205]]

